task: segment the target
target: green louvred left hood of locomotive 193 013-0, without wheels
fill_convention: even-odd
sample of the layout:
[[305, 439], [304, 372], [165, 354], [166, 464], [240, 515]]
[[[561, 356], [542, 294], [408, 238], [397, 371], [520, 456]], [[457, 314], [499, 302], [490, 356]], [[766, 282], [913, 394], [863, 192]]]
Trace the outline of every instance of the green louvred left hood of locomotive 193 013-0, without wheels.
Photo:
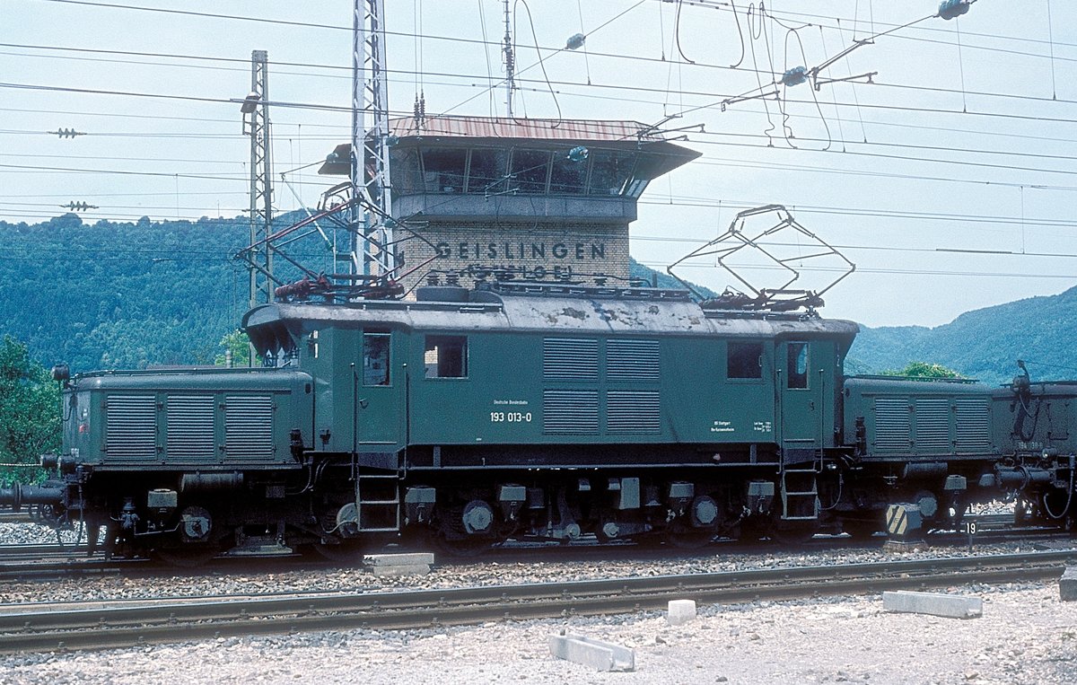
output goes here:
[[[313, 381], [296, 369], [109, 371], [64, 391], [64, 447], [96, 471], [295, 466]], [[72, 451], [73, 450], [73, 451]]]

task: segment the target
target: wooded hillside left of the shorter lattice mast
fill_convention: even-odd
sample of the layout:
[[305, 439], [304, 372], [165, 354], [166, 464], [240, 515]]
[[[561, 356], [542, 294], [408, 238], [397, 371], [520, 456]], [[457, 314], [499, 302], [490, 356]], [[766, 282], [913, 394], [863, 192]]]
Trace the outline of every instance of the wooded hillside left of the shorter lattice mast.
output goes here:
[[73, 372], [212, 363], [247, 306], [243, 220], [0, 222], [0, 333]]

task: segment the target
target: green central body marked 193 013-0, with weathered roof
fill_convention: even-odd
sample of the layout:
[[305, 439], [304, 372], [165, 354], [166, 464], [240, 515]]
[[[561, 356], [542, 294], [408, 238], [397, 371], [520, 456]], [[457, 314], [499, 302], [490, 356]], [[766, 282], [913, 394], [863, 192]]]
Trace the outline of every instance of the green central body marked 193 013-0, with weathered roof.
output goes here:
[[419, 464], [443, 447], [609, 448], [587, 457], [601, 464], [619, 449], [676, 446], [713, 464], [835, 447], [856, 324], [623, 293], [271, 304], [244, 328], [317, 379], [319, 450], [414, 448]]

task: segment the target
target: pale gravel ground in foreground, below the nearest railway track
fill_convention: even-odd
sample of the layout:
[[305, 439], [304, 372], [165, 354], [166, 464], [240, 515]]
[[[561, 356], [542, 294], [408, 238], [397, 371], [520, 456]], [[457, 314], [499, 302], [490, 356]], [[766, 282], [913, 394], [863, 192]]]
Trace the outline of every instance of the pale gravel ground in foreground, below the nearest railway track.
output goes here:
[[[407, 632], [220, 639], [0, 660], [0, 683], [1073, 683], [1077, 605], [1053, 585], [953, 588], [977, 619], [887, 614], [878, 596]], [[549, 656], [561, 629], [635, 649], [637, 670], [598, 673]]]

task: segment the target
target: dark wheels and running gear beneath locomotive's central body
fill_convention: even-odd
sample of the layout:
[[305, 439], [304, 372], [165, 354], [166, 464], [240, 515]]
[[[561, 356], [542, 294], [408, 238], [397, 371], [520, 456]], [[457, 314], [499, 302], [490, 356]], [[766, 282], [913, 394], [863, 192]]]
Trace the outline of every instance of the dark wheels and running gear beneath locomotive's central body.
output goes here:
[[[464, 549], [470, 549], [470, 543], [569, 542], [587, 534], [600, 541], [642, 536], [707, 542], [716, 535], [737, 536], [740, 526], [747, 522], [760, 534], [769, 534], [781, 519], [777, 485], [743, 481], [743, 475], [705, 480], [687, 472], [681, 474], [685, 479], [667, 479], [654, 474], [603, 475], [593, 470], [572, 475], [529, 471], [472, 478], [463, 489], [448, 480], [438, 487], [406, 489], [405, 525], [412, 529], [418, 525], [450, 548], [461, 543]], [[420, 500], [424, 503], [421, 515], [417, 514]], [[811, 529], [816, 528], [813, 521]]]

